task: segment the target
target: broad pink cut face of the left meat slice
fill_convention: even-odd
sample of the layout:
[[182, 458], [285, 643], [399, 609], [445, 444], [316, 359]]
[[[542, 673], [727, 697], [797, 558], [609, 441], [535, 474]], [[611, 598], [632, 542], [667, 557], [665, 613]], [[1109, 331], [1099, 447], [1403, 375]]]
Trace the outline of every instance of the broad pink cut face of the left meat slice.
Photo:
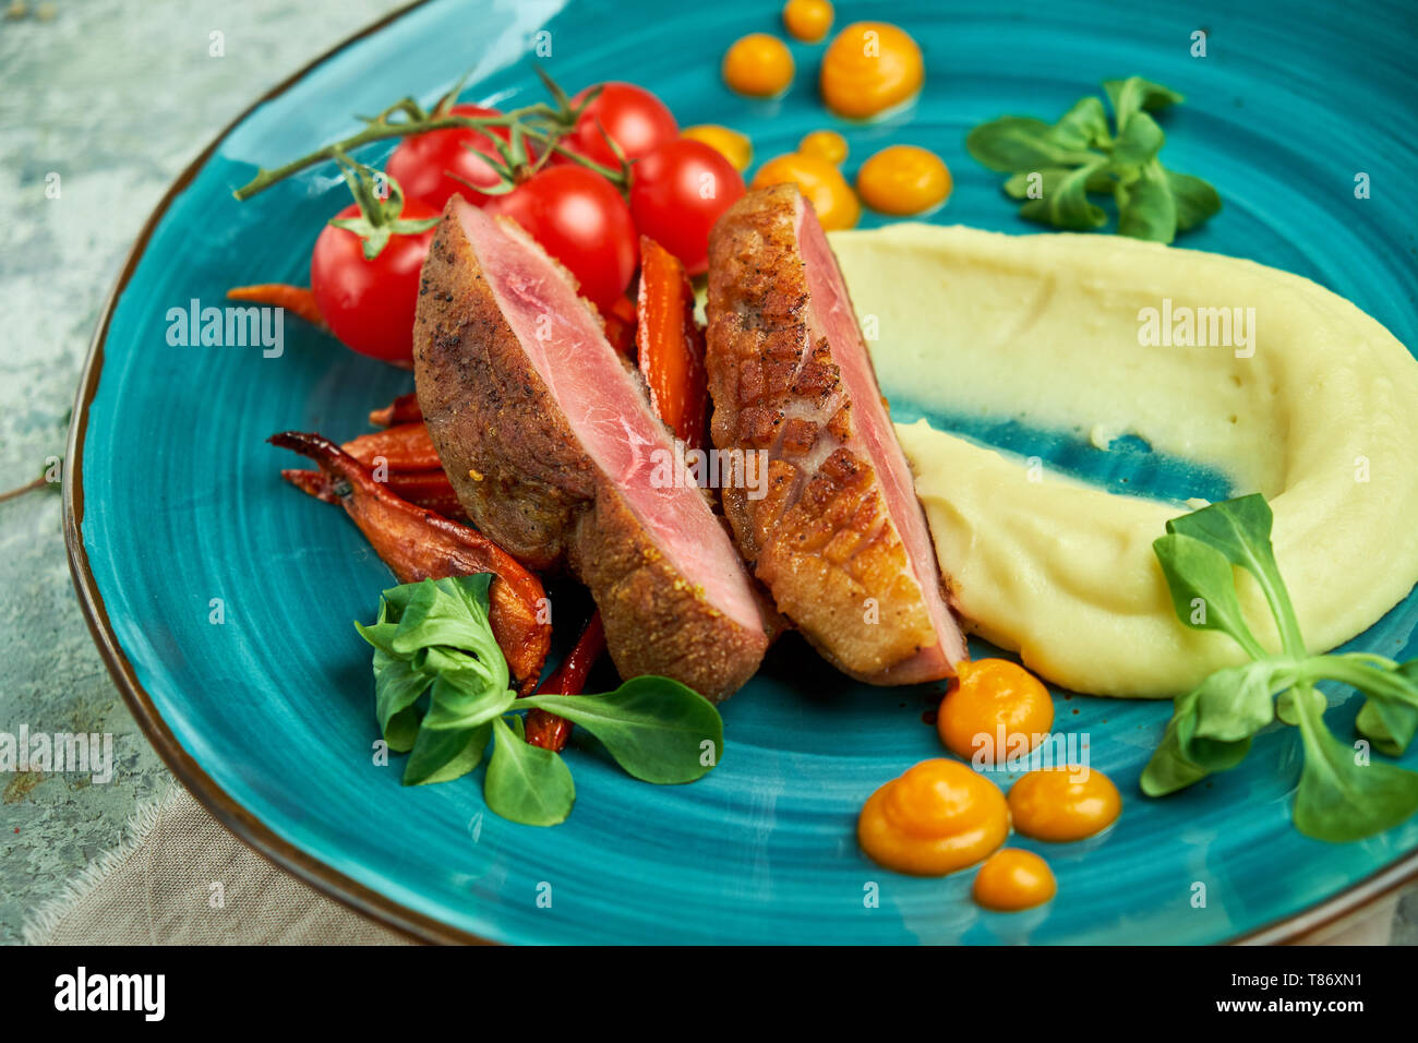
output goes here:
[[[655, 546], [709, 603], [749, 629], [761, 616], [739, 552], [590, 307], [515, 224], [462, 203], [458, 220], [522, 349], [596, 465], [620, 487]], [[668, 456], [661, 457], [657, 450]], [[674, 482], [654, 481], [666, 464]]]

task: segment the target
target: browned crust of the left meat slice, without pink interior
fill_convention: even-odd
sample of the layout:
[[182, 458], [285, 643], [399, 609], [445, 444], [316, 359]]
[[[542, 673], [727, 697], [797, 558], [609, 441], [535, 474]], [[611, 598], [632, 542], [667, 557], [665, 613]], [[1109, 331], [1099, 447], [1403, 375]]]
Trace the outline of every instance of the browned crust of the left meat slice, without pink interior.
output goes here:
[[529, 566], [570, 566], [601, 610], [623, 677], [662, 674], [719, 701], [753, 675], [763, 630], [712, 606], [581, 448], [451, 209], [423, 270], [414, 376], [474, 525]]

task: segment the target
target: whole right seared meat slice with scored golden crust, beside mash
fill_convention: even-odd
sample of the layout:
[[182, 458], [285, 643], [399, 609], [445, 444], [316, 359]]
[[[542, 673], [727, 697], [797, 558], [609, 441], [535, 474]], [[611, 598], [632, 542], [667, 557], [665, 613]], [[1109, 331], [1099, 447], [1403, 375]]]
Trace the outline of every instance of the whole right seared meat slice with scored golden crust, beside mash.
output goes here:
[[725, 488], [778, 610], [871, 684], [966, 657], [926, 517], [842, 274], [795, 186], [750, 192], [709, 241], [709, 390], [720, 450], [766, 450], [767, 492]]

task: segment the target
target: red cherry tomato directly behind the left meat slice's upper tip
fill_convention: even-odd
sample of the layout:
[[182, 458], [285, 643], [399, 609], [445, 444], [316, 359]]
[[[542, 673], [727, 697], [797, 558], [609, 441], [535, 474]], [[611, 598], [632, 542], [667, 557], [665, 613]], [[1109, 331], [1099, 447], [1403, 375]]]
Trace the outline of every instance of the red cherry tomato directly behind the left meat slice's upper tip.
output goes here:
[[581, 295], [610, 309], [635, 274], [640, 240], [615, 187], [584, 166], [552, 166], [488, 204], [513, 219], [581, 284]]

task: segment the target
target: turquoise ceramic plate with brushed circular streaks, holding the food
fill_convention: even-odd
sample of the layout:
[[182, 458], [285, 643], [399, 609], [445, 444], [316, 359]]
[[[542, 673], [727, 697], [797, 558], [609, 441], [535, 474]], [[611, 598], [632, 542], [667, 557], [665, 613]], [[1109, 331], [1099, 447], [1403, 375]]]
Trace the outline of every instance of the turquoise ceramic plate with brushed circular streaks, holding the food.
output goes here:
[[[632, 78], [683, 125], [747, 132], [760, 158], [820, 126], [847, 133], [849, 172], [889, 142], [932, 148], [956, 176], [936, 220], [1008, 233], [1034, 228], [1014, 217], [1000, 179], [966, 156], [966, 131], [1004, 112], [1052, 116], [1105, 77], [1147, 75], [1187, 95], [1166, 118], [1168, 162], [1205, 175], [1225, 199], [1187, 245], [1312, 277], [1418, 346], [1404, 187], [1418, 166], [1412, 9], [1198, 10], [1207, 6], [842, 3], [839, 24], [896, 21], [926, 54], [919, 105], [876, 126], [841, 125], [818, 105], [818, 48], [794, 44], [798, 75], [783, 101], [749, 102], [720, 85], [726, 45], [776, 30], [771, 0], [564, 10], [434, 0], [284, 85], [221, 136], [155, 216], [101, 325], [75, 413], [67, 484], [75, 576], [159, 751], [242, 839], [434, 938], [1215, 942], [1286, 937], [1395, 887], [1418, 870], [1418, 819], [1357, 844], [1299, 836], [1289, 823], [1293, 729], [1263, 735], [1238, 771], [1153, 802], [1137, 778], [1168, 707], [1086, 695], [1061, 695], [1058, 724], [1090, 736], [1092, 763], [1117, 782], [1124, 810], [1093, 841], [1024, 844], [1046, 853], [1056, 901], [990, 914], [970, 903], [968, 874], [913, 880], [881, 870], [856, 850], [856, 809], [885, 779], [940, 754], [922, 722], [939, 690], [856, 687], [795, 639], [725, 705], [722, 766], [696, 785], [641, 785], [579, 746], [567, 755], [576, 810], [550, 830], [486, 812], [472, 779], [403, 789], [397, 769], [372, 763], [369, 654], [350, 627], [373, 616], [389, 572], [339, 511], [281, 481], [294, 460], [264, 438], [285, 429], [350, 437], [410, 377], [295, 321], [279, 358], [166, 339], [170, 308], [221, 304], [235, 284], [305, 281], [311, 243], [345, 203], [343, 189], [333, 169], [319, 169], [234, 203], [231, 189], [258, 163], [342, 136], [352, 114], [403, 94], [431, 101], [474, 61], [467, 96], [501, 105], [535, 96], [527, 53], [546, 30], [547, 65], [567, 87]], [[1188, 53], [1194, 30], [1208, 33], [1204, 58]], [[1354, 197], [1357, 172], [1370, 175], [1371, 199]], [[930, 412], [909, 389], [886, 390], [902, 412]], [[1146, 478], [1156, 492], [1184, 495], [1198, 480], [1141, 451], [1100, 460], [1044, 433], [976, 433], [1105, 482]], [[210, 622], [213, 599], [223, 600], [223, 624]], [[1353, 646], [1411, 657], [1415, 623], [1418, 596], [1409, 596]], [[1354, 700], [1333, 708], [1337, 732], [1354, 711]], [[1418, 751], [1407, 759], [1418, 765]], [[872, 881], [875, 908], [864, 901]], [[1195, 883], [1207, 887], [1204, 908], [1191, 901]], [[550, 907], [537, 903], [546, 884]]]

